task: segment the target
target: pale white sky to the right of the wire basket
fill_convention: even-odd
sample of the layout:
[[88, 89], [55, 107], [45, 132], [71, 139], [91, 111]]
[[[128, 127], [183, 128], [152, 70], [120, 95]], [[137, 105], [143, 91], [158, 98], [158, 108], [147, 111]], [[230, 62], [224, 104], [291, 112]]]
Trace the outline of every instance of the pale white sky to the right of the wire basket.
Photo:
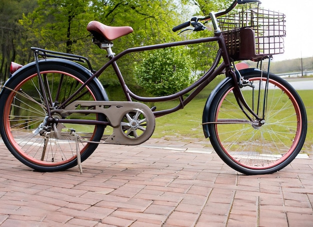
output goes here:
[[286, 15], [284, 53], [274, 61], [313, 56], [313, 0], [260, 0], [261, 7]]

